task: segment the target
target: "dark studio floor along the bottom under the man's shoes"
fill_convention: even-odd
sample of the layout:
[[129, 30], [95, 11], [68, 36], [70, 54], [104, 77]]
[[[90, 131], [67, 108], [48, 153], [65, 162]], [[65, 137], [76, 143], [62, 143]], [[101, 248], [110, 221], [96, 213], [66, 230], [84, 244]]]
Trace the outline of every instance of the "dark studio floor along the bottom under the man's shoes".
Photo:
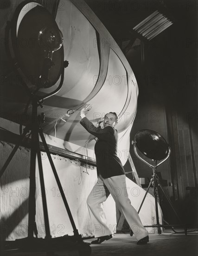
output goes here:
[[[90, 243], [94, 239], [87, 239]], [[91, 245], [91, 256], [198, 256], [198, 232], [175, 234], [173, 231], [161, 235], [149, 235], [149, 243], [137, 245], [134, 236], [115, 234], [112, 239], [99, 245]], [[77, 248], [57, 251], [54, 254], [10, 251], [2, 256], [78, 256]]]

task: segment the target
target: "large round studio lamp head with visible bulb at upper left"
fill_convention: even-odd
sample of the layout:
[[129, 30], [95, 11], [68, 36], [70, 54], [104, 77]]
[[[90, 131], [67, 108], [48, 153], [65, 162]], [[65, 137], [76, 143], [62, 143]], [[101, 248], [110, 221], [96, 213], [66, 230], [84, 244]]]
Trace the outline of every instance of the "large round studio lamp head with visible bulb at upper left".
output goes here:
[[14, 67], [29, 89], [55, 85], [64, 65], [63, 34], [45, 7], [36, 2], [19, 5], [10, 42]]

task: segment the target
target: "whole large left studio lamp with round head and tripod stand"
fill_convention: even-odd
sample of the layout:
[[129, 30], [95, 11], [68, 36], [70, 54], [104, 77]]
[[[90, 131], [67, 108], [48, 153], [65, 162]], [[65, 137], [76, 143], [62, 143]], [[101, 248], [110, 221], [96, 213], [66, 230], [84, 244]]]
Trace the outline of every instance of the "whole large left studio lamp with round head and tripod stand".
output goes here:
[[[26, 9], [26, 15], [24, 16], [24, 9]], [[36, 11], [35, 11], [36, 10]], [[37, 14], [39, 13], [39, 15]], [[25, 18], [26, 19], [25, 19]], [[39, 17], [39, 18], [38, 18]], [[36, 23], [35, 23], [36, 22]], [[30, 26], [27, 26], [27, 24]], [[33, 25], [32, 25], [33, 24]], [[31, 33], [28, 33], [31, 31]], [[56, 249], [56, 241], [58, 247], [64, 246], [64, 249], [69, 247], [69, 243], [74, 243], [75, 247], [80, 245], [81, 252], [86, 251], [87, 255], [90, 255], [91, 250], [86, 247], [83, 243], [81, 235], [79, 235], [76, 225], [74, 223], [73, 217], [70, 212], [69, 205], [67, 203], [66, 197], [64, 195], [61, 182], [57, 175], [56, 168], [52, 161], [49, 148], [45, 141], [43, 134], [43, 129], [41, 123], [44, 122], [45, 115], [42, 113], [38, 115], [38, 106], [42, 107], [43, 101], [52, 95], [55, 95], [61, 88], [64, 82], [64, 69], [68, 66], [69, 62], [64, 61], [64, 38], [63, 34], [57, 26], [55, 17], [45, 9], [42, 4], [33, 3], [33, 5], [28, 4], [27, 1], [23, 1], [14, 11], [13, 18], [11, 21], [7, 22], [6, 29], [6, 53], [13, 66], [13, 71], [17, 72], [17, 75], [21, 78], [19, 81], [22, 86], [26, 89], [26, 92], [30, 96], [32, 101], [32, 120], [29, 125], [26, 126], [18, 143], [13, 148], [13, 151], [7, 158], [3, 168], [0, 170], [0, 177], [5, 172], [7, 166], [12, 160], [17, 149], [21, 145], [21, 142], [25, 139], [27, 133], [31, 131], [31, 160], [30, 160], [30, 194], [29, 194], [29, 216], [28, 216], [28, 236], [25, 239], [19, 239], [21, 242], [18, 243], [19, 247], [23, 247], [26, 250], [34, 250], [34, 247], [39, 247], [39, 249], [44, 249], [49, 251], [49, 248]], [[32, 38], [37, 39], [34, 47], [22, 47], [16, 42], [19, 42], [21, 38], [26, 37], [27, 40], [32, 41]], [[45, 42], [42, 45], [41, 42]], [[56, 57], [54, 53], [56, 52]], [[52, 58], [53, 57], [53, 58]], [[29, 65], [29, 64], [32, 65]], [[52, 68], [52, 66], [54, 66]], [[25, 79], [26, 78], [26, 79]], [[33, 78], [33, 79], [32, 79]], [[57, 83], [60, 78], [59, 84]], [[18, 81], [18, 82], [19, 82]], [[50, 88], [57, 84], [56, 89], [51, 91], [51, 93], [45, 94], [45, 96], [36, 95], [41, 88]], [[43, 94], [40, 94], [43, 95]], [[30, 101], [29, 101], [30, 102]], [[28, 103], [29, 104], [29, 103]], [[28, 106], [28, 105], [27, 105]], [[27, 110], [27, 109], [26, 109]], [[73, 232], [74, 239], [68, 237], [57, 237], [51, 239], [49, 217], [47, 210], [47, 201], [45, 195], [45, 181], [43, 174], [43, 167], [41, 161], [40, 152], [40, 142], [39, 135], [43, 142], [45, 151], [47, 153], [49, 162], [53, 174], [55, 176], [58, 189], [62, 196], [64, 206], [67, 210]], [[41, 185], [41, 195], [44, 210], [44, 222], [45, 222], [45, 239], [38, 238], [37, 225], [35, 221], [36, 216], [36, 157], [38, 158], [38, 170], [40, 176]], [[36, 238], [34, 237], [34, 234]], [[63, 238], [63, 239], [62, 239]], [[25, 241], [24, 241], [25, 240]], [[70, 240], [70, 241], [68, 241]], [[14, 242], [17, 242], [14, 241]], [[67, 243], [69, 242], [69, 243]], [[65, 244], [66, 243], [66, 244]], [[53, 245], [53, 246], [51, 246]], [[65, 246], [66, 245], [66, 246]], [[82, 246], [81, 246], [82, 245]], [[80, 251], [79, 251], [80, 253]]]

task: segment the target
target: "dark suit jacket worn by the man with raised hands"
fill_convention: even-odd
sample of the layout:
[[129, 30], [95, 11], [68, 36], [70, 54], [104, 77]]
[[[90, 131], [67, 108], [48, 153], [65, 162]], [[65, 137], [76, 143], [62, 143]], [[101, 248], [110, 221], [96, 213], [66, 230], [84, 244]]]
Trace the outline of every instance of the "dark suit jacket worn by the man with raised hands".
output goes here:
[[118, 133], [114, 128], [95, 127], [87, 117], [83, 117], [80, 123], [92, 135], [98, 138], [95, 144], [96, 166], [102, 178], [125, 174], [124, 168], [117, 156]]

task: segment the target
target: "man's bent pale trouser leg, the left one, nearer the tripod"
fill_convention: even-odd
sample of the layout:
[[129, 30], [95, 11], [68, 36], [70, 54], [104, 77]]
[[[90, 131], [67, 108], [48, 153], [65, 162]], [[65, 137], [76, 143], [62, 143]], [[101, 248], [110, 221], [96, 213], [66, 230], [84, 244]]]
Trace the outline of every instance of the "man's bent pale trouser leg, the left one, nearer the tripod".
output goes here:
[[89, 215], [94, 226], [95, 237], [111, 235], [111, 229], [107, 226], [102, 203], [107, 200], [109, 194], [109, 190], [106, 188], [102, 177], [99, 175], [96, 185], [87, 198]]

